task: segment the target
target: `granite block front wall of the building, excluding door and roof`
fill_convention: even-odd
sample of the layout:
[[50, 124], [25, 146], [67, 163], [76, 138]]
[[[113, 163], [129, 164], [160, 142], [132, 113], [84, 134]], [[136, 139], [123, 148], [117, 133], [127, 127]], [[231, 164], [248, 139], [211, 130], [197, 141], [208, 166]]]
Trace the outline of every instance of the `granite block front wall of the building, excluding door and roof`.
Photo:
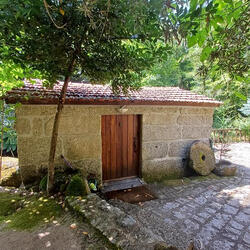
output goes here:
[[[142, 115], [141, 168], [146, 180], [178, 178], [185, 174], [188, 146], [208, 142], [213, 108], [127, 106], [125, 114]], [[55, 105], [22, 105], [16, 110], [19, 166], [24, 181], [47, 167]], [[63, 154], [83, 173], [102, 179], [101, 115], [121, 114], [119, 106], [66, 105], [59, 127], [56, 165]]]

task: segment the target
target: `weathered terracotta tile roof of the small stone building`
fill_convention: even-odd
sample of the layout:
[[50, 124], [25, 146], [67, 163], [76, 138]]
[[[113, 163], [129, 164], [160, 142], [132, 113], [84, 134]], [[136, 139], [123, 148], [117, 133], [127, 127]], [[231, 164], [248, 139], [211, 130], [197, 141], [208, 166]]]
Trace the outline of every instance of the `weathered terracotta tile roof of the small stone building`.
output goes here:
[[[61, 82], [53, 89], [44, 88], [39, 81], [36, 84], [26, 82], [22, 88], [9, 91], [5, 99], [7, 103], [56, 104], [61, 87]], [[108, 85], [71, 82], [66, 104], [219, 106], [221, 103], [178, 87], [143, 87], [128, 95], [115, 95]]]

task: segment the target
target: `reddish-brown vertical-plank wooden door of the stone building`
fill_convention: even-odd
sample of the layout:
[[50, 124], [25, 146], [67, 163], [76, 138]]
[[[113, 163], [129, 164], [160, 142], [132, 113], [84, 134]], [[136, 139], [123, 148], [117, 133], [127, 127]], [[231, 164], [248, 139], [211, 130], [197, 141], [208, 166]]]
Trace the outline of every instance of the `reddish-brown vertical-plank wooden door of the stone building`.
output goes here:
[[102, 116], [102, 176], [113, 180], [139, 175], [140, 116]]

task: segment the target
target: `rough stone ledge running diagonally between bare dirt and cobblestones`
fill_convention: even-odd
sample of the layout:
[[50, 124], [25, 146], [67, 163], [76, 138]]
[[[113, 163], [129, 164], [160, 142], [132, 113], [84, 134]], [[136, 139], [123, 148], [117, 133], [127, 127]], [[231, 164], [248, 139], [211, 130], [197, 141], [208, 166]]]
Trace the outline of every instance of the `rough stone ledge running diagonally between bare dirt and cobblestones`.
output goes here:
[[[160, 235], [144, 227], [133, 216], [95, 194], [90, 194], [84, 199], [68, 197], [67, 203], [119, 249], [153, 250], [156, 243], [164, 241]], [[190, 245], [190, 240], [180, 237], [176, 229], [168, 229], [172, 232], [171, 239], [174, 242], [178, 240], [180, 245]]]

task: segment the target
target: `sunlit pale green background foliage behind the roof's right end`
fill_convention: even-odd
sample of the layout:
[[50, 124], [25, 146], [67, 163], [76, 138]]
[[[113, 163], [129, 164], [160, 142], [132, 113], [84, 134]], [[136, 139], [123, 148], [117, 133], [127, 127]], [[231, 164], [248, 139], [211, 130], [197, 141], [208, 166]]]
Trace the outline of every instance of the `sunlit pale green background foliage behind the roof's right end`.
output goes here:
[[199, 60], [202, 50], [176, 45], [167, 60], [155, 64], [145, 72], [145, 86], [175, 86], [213, 97], [223, 102], [215, 110], [214, 128], [250, 130], [250, 118], [240, 109], [247, 103], [247, 79], [238, 81], [228, 73], [214, 76], [206, 64]]

